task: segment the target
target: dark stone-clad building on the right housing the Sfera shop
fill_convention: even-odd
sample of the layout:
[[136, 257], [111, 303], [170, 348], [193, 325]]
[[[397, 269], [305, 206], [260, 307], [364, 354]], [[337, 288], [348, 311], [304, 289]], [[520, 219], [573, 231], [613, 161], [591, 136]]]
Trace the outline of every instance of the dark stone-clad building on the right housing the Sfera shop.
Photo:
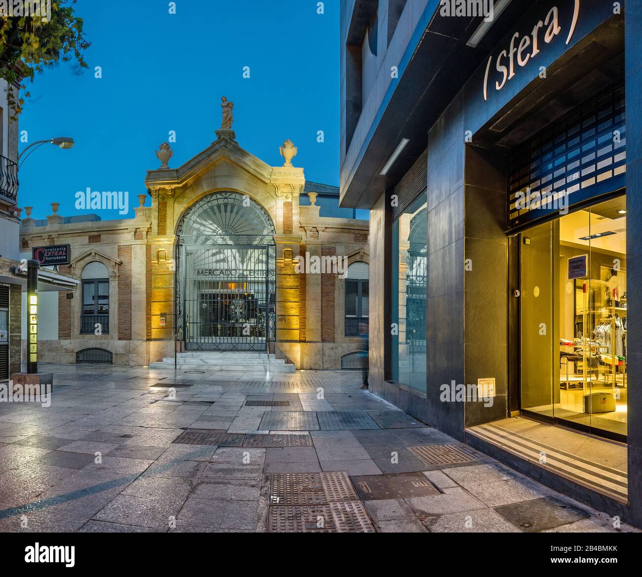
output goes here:
[[370, 386], [642, 526], [642, 7], [444, 8], [342, 1]]

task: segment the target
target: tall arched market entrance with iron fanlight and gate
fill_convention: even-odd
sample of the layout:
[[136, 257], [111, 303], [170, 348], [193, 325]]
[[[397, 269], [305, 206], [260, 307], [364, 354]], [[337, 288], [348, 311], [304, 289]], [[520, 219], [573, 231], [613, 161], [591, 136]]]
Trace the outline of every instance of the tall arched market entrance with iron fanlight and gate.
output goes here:
[[247, 196], [198, 200], [177, 227], [177, 338], [186, 350], [265, 351], [275, 341], [272, 218]]

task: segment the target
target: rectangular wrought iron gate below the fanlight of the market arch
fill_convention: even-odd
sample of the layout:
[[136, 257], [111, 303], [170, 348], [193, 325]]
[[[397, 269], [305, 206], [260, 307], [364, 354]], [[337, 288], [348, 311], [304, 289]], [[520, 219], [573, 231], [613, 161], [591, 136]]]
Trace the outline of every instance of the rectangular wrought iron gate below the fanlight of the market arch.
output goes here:
[[271, 245], [182, 247], [187, 350], [266, 350], [275, 312], [271, 252]]

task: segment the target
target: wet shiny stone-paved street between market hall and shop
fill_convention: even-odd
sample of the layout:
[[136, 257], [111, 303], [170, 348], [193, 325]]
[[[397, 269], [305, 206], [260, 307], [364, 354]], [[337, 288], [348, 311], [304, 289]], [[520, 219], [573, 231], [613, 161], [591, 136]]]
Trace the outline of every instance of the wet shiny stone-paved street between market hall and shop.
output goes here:
[[0, 531], [633, 530], [361, 391], [360, 373], [40, 371], [51, 406], [0, 403]]

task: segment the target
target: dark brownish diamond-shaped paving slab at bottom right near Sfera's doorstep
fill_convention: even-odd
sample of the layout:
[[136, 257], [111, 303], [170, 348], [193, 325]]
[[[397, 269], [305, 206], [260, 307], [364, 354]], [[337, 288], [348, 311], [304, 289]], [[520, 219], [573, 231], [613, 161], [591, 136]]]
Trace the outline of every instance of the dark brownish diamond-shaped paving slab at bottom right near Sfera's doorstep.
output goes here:
[[554, 529], [586, 519], [589, 516], [579, 508], [554, 497], [530, 499], [529, 501], [495, 507], [494, 510], [527, 533]]

